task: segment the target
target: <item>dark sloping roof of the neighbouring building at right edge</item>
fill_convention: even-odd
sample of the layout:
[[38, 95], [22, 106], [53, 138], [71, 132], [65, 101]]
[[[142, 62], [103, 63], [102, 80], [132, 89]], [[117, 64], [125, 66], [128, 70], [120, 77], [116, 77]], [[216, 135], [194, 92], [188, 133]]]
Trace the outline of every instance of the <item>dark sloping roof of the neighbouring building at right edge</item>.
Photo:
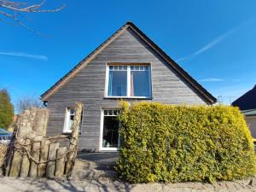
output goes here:
[[235, 102], [232, 102], [232, 105], [239, 107], [241, 111], [256, 108], [256, 85], [252, 90], [247, 91]]

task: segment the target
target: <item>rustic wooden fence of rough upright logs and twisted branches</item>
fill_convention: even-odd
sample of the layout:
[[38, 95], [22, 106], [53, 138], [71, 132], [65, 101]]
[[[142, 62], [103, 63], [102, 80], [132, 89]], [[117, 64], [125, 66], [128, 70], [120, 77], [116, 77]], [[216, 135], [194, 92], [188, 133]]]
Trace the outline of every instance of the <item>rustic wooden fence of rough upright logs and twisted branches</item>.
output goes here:
[[34, 108], [22, 113], [15, 125], [13, 140], [9, 144], [5, 175], [69, 177], [77, 155], [82, 110], [83, 105], [76, 104], [72, 133], [56, 137], [45, 136], [49, 116], [47, 109]]

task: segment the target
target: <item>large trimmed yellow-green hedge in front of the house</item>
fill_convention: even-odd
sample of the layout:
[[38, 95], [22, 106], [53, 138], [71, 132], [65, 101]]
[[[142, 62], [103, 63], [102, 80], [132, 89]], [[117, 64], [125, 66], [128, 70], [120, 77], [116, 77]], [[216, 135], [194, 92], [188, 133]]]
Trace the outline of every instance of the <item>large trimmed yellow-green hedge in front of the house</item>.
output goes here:
[[131, 183], [214, 182], [255, 173], [253, 138], [238, 108], [125, 103], [119, 120], [116, 169]]

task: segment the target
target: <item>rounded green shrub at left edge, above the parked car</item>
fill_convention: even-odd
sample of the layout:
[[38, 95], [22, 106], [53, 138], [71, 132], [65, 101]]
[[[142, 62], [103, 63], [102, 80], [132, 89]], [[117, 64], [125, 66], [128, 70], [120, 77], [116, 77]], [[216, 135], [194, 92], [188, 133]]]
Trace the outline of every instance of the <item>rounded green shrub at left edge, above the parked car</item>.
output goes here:
[[0, 90], [0, 128], [8, 129], [14, 120], [14, 106], [7, 90]]

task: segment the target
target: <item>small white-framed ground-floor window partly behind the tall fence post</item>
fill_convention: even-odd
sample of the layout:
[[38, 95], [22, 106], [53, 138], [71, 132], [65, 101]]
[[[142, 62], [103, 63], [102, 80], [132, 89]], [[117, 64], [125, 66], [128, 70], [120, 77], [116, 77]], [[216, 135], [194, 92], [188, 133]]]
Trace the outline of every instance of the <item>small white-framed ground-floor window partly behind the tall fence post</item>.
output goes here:
[[[71, 133], [72, 132], [74, 115], [75, 115], [75, 109], [74, 108], [67, 108], [66, 118], [65, 118], [65, 123], [64, 123], [64, 129], [63, 129], [64, 133]], [[83, 111], [81, 113], [79, 132], [82, 131], [82, 121], [83, 121]]]

